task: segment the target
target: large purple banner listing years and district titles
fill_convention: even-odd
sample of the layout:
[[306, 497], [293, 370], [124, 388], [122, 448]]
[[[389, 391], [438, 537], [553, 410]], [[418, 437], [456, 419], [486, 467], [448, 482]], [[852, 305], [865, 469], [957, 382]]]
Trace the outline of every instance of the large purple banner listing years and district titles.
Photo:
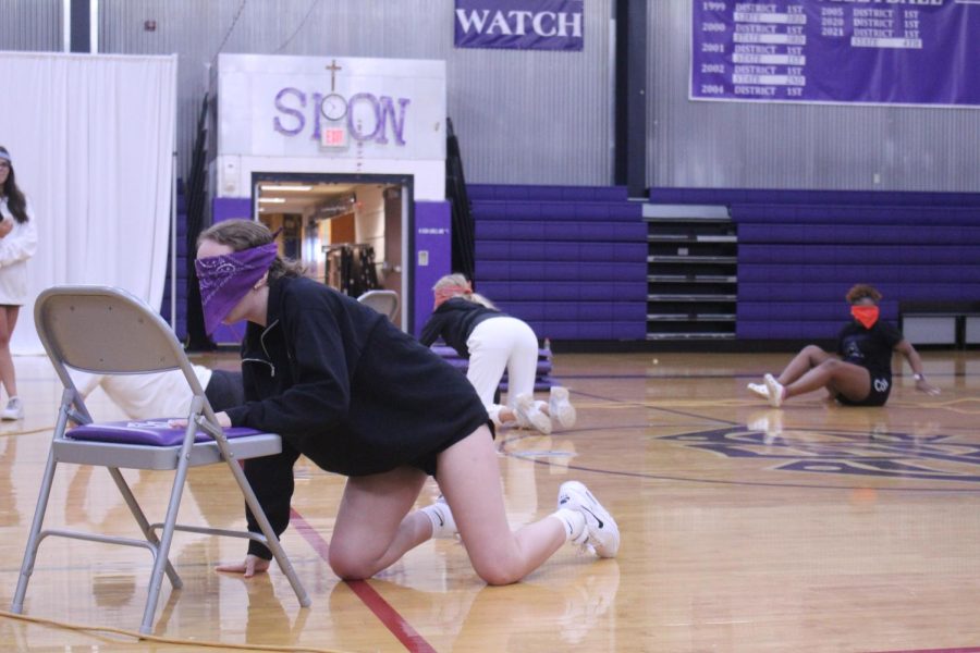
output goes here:
[[695, 0], [696, 100], [980, 106], [980, 0]]

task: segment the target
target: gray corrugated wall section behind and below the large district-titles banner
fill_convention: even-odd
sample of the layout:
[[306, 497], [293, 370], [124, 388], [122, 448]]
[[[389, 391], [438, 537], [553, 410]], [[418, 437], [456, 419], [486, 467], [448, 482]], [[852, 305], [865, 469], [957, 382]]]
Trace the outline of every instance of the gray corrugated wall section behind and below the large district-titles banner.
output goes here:
[[648, 185], [980, 190], [980, 110], [693, 102], [690, 2], [649, 2]]

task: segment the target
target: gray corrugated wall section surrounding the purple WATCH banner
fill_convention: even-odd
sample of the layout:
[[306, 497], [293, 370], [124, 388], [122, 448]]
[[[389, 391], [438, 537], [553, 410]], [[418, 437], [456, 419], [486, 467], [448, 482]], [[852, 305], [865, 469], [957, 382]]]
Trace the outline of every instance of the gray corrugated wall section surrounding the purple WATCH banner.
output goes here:
[[[100, 0], [100, 50], [180, 54], [182, 169], [207, 69], [221, 48], [444, 59], [467, 181], [605, 185], [612, 176], [613, 1], [585, 3], [586, 46], [573, 53], [456, 49], [452, 0]], [[155, 32], [144, 29], [147, 20], [156, 21]]]

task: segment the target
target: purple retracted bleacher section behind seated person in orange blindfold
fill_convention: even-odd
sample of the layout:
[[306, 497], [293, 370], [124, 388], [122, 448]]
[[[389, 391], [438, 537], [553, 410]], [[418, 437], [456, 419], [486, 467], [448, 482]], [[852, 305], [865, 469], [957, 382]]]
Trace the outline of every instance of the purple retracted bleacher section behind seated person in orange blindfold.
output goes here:
[[845, 294], [856, 283], [881, 291], [882, 318], [893, 322], [899, 303], [980, 300], [980, 194], [666, 188], [654, 196], [730, 207], [739, 341], [832, 338], [850, 319]]

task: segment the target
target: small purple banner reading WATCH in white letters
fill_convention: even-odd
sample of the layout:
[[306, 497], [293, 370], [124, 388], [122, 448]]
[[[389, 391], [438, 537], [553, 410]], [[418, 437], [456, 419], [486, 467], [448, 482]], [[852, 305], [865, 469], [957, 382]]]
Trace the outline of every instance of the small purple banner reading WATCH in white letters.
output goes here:
[[583, 49], [583, 0], [456, 0], [457, 48]]

